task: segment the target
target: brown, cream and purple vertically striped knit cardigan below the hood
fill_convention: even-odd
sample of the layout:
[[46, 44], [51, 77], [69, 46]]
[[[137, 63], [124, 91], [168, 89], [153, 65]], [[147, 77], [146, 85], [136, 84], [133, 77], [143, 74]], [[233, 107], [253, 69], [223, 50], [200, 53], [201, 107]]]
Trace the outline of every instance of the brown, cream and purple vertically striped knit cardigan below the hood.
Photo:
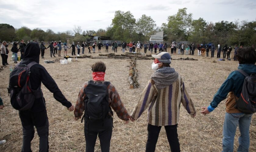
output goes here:
[[196, 113], [194, 104], [180, 76], [171, 85], [160, 90], [150, 79], [131, 116], [138, 119], [148, 108], [149, 124], [154, 126], [176, 125], [179, 120], [180, 103], [191, 116]]

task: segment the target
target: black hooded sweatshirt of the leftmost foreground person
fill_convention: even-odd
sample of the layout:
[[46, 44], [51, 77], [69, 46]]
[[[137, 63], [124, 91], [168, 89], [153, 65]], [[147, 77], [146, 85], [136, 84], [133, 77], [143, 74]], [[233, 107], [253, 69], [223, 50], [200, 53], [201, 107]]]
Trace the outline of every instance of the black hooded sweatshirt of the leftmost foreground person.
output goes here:
[[[62, 92], [59, 90], [57, 84], [51, 77], [51, 75], [46, 71], [46, 69], [39, 64], [39, 55], [40, 55], [40, 47], [36, 42], [30, 42], [27, 44], [23, 61], [20, 62], [22, 64], [29, 64], [32, 61], [37, 62], [38, 64], [33, 65], [30, 68], [30, 82], [31, 88], [36, 90], [41, 87], [41, 82], [44, 86], [53, 93], [53, 97], [59, 101], [62, 105], [67, 108], [71, 107], [71, 103], [64, 97]], [[39, 112], [45, 109], [45, 103], [42, 98], [36, 99], [34, 105], [32, 107], [32, 112]]]

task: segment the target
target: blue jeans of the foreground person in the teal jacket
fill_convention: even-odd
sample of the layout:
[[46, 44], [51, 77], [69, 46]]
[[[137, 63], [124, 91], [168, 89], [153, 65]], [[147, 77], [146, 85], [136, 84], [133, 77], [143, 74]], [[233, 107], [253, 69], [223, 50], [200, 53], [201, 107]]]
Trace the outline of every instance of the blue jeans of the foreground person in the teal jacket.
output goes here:
[[233, 152], [234, 137], [236, 133], [236, 127], [239, 126], [240, 137], [239, 147], [237, 151], [249, 151], [250, 136], [249, 128], [251, 123], [252, 114], [246, 115], [244, 113], [227, 113], [225, 115], [225, 121], [223, 125], [223, 139], [222, 148], [223, 152]]

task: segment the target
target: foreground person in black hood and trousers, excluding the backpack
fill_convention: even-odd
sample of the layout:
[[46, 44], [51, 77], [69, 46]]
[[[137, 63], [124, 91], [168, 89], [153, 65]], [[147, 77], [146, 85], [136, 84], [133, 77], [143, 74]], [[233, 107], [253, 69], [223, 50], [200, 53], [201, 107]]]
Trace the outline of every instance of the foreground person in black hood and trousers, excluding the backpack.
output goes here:
[[[20, 65], [27, 65], [33, 61], [38, 63], [30, 68], [31, 88], [33, 90], [41, 88], [42, 82], [44, 86], [53, 93], [53, 97], [58, 102], [66, 106], [69, 111], [73, 111], [74, 106], [64, 97], [51, 75], [42, 65], [39, 64], [39, 55], [39, 44], [36, 42], [30, 42], [27, 44], [24, 52], [23, 61], [20, 62]], [[36, 127], [37, 134], [39, 136], [39, 151], [48, 151], [49, 122], [43, 95], [41, 98], [35, 99], [34, 105], [30, 110], [19, 111], [19, 116], [23, 127], [23, 143], [21, 151], [31, 151], [30, 143], [34, 138], [34, 126]]]

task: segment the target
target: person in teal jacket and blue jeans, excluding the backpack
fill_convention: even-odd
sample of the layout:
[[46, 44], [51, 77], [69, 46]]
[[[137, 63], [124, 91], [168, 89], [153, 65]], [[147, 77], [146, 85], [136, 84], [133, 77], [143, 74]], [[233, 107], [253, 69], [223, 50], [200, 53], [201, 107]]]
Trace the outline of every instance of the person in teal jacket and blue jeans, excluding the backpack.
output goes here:
[[[247, 74], [256, 74], [256, 51], [253, 47], [237, 49], [236, 58], [239, 61], [238, 69]], [[222, 148], [224, 152], [233, 152], [236, 127], [239, 125], [240, 137], [237, 151], [249, 151], [249, 128], [252, 114], [244, 114], [235, 108], [236, 100], [240, 97], [245, 76], [239, 71], [233, 71], [214, 95], [208, 107], [202, 107], [201, 113], [206, 115], [217, 108], [218, 104], [226, 99], [226, 115], [223, 125]]]

